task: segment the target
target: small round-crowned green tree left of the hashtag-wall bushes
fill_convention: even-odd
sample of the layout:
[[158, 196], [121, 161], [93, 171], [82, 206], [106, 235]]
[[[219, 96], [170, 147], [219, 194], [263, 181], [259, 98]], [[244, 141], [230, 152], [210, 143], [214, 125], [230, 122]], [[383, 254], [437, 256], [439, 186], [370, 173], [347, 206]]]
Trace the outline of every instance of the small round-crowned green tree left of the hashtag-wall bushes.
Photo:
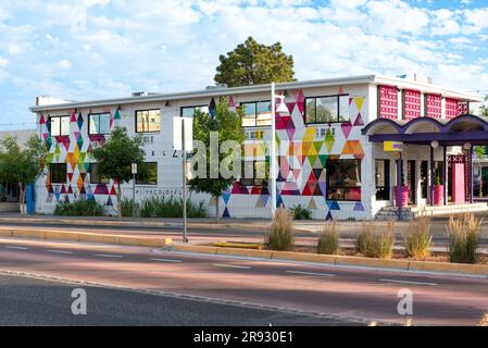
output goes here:
[[139, 178], [143, 179], [148, 175], [142, 137], [138, 135], [132, 139], [127, 136], [126, 128], [116, 126], [105, 145], [95, 148], [91, 154], [99, 163], [100, 173], [113, 179], [117, 185], [117, 214], [121, 217], [121, 184], [133, 179], [132, 164], [137, 163]]

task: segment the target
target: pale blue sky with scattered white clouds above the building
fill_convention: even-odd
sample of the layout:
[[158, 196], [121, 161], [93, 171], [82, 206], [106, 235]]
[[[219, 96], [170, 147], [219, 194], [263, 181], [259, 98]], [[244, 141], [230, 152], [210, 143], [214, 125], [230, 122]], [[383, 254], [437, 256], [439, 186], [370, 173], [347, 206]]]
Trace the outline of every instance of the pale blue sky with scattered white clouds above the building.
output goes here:
[[36, 96], [203, 89], [249, 36], [302, 80], [416, 73], [488, 95], [488, 0], [0, 0], [0, 130], [34, 128]]

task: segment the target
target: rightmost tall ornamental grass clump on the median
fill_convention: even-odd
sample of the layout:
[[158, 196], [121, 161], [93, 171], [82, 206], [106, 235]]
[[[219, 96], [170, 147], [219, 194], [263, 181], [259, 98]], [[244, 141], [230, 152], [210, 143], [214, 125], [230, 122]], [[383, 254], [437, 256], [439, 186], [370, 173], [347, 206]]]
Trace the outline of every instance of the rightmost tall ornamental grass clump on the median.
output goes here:
[[452, 215], [449, 217], [447, 229], [450, 262], [476, 263], [480, 223], [473, 213], [463, 213], [458, 219]]

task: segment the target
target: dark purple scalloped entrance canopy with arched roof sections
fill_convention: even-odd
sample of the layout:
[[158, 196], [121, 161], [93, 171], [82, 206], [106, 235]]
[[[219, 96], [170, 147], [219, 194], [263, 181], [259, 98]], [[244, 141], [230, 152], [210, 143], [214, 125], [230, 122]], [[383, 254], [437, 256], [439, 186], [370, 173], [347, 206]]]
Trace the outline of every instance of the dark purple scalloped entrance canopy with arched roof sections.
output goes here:
[[372, 142], [388, 140], [404, 144], [486, 145], [488, 142], [488, 117], [464, 114], [451, 120], [417, 117], [406, 120], [377, 119], [362, 130]]

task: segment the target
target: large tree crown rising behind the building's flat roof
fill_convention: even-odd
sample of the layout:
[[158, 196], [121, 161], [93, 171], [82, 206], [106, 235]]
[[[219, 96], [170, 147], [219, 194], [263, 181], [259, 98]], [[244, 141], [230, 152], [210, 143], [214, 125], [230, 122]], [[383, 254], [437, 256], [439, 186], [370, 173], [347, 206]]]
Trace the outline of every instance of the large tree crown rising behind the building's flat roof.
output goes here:
[[218, 57], [221, 64], [214, 77], [229, 87], [284, 83], [293, 78], [293, 57], [281, 52], [281, 44], [258, 44], [251, 36], [227, 55]]

